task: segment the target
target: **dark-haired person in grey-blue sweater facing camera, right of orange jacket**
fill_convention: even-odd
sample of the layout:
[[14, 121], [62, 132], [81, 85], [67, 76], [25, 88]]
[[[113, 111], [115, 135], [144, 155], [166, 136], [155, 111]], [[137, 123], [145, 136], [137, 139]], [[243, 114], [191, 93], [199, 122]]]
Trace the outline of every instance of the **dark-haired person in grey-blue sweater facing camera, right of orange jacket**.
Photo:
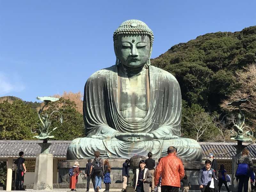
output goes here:
[[213, 192], [214, 188], [211, 188], [211, 181], [213, 178], [214, 180], [217, 180], [217, 177], [214, 173], [214, 170], [211, 168], [212, 162], [210, 160], [205, 161], [205, 166], [200, 169], [197, 181], [199, 184], [199, 188], [202, 192]]

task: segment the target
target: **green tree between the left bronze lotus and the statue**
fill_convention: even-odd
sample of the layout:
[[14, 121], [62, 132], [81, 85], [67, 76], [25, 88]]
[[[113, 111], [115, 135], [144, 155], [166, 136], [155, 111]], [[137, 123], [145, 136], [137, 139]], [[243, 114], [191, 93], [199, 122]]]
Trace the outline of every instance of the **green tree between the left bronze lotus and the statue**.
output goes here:
[[53, 140], [73, 140], [78, 137], [85, 137], [83, 115], [76, 110], [74, 101], [60, 98], [59, 101], [50, 102], [45, 112], [51, 114], [54, 110], [58, 110], [61, 113], [63, 124], [61, 125], [59, 122], [59, 114], [53, 113], [51, 128], [58, 127], [52, 132], [52, 135], [54, 135]]

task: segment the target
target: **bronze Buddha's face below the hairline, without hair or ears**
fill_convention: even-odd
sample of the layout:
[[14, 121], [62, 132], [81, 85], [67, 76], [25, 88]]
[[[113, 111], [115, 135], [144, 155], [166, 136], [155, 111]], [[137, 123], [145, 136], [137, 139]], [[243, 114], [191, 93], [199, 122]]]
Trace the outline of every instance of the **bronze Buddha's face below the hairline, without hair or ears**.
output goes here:
[[150, 57], [150, 40], [148, 36], [119, 35], [116, 54], [121, 63], [127, 67], [141, 67]]

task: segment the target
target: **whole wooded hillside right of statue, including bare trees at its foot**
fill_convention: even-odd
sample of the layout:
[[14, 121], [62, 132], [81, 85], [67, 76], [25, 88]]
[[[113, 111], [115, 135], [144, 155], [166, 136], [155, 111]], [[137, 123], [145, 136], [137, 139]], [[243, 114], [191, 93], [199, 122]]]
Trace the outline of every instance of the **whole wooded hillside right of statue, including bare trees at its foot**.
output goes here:
[[151, 60], [152, 65], [172, 73], [180, 84], [182, 136], [198, 141], [228, 141], [232, 125], [223, 127], [220, 119], [231, 111], [223, 107], [223, 102], [243, 97], [249, 98], [250, 105], [244, 106], [246, 123], [255, 133], [255, 66], [248, 67], [255, 64], [255, 53], [256, 26], [252, 26], [234, 33], [198, 36]]

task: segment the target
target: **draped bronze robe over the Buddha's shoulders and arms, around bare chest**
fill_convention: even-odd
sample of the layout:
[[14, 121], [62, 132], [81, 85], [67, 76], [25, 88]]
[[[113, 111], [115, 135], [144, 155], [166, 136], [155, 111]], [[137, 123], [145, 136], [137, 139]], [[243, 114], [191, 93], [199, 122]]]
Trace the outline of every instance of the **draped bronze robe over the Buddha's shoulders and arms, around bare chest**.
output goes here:
[[109, 139], [117, 133], [153, 133], [155, 139], [180, 136], [180, 85], [172, 74], [149, 66], [150, 101], [146, 117], [127, 121], [118, 108], [117, 66], [94, 73], [84, 88], [87, 137]]

